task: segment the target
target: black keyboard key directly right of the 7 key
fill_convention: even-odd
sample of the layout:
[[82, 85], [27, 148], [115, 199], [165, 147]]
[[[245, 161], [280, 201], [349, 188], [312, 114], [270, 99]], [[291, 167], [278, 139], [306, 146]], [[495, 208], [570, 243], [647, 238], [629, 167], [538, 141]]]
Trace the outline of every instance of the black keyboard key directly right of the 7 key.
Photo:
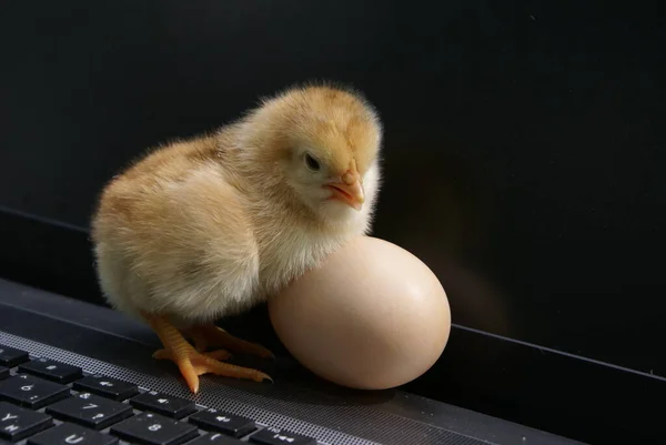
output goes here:
[[111, 427], [111, 434], [143, 445], [180, 445], [198, 436], [194, 425], [152, 413], [141, 413]]

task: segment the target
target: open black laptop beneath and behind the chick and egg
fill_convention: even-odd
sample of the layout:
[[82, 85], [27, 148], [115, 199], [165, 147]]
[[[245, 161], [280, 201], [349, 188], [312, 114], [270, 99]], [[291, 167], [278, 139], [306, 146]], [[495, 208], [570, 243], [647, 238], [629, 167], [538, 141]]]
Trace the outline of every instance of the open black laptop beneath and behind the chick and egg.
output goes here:
[[[663, 443], [656, 7], [118, 0], [1, 16], [0, 444]], [[205, 375], [193, 396], [151, 357], [150, 327], [101, 295], [97, 198], [148, 148], [313, 79], [380, 112], [373, 235], [437, 275], [450, 340], [416, 380], [354, 391], [300, 365], [259, 305], [219, 323], [276, 354], [274, 383]]]

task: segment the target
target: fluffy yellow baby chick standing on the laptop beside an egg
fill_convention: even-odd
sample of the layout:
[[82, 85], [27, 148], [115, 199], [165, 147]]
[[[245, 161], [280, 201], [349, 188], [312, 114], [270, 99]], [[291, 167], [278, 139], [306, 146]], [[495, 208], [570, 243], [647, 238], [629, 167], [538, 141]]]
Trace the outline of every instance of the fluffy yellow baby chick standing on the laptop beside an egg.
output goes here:
[[105, 185], [92, 218], [107, 300], [152, 326], [163, 345], [153, 356], [173, 361], [193, 393], [205, 373], [270, 380], [222, 362], [230, 352], [272, 354], [213, 323], [369, 232], [381, 140], [372, 105], [322, 84], [153, 150]]

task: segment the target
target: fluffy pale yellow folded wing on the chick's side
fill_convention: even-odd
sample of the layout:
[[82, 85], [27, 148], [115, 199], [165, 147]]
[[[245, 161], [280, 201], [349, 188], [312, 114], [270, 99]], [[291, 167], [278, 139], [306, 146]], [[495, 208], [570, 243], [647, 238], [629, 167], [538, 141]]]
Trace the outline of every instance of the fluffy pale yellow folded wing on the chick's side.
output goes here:
[[170, 162], [105, 189], [93, 221], [102, 287], [121, 309], [192, 321], [239, 312], [259, 274], [244, 198], [212, 162]]

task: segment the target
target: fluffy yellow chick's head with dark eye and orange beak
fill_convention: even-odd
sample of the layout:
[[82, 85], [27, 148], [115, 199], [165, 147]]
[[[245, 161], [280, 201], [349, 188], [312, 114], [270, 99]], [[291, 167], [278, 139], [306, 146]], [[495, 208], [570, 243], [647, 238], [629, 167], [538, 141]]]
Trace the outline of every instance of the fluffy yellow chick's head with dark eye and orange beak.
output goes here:
[[254, 141], [273, 165], [276, 186], [319, 218], [344, 222], [372, 211], [380, 182], [382, 127], [355, 92], [331, 87], [289, 90], [254, 117]]

